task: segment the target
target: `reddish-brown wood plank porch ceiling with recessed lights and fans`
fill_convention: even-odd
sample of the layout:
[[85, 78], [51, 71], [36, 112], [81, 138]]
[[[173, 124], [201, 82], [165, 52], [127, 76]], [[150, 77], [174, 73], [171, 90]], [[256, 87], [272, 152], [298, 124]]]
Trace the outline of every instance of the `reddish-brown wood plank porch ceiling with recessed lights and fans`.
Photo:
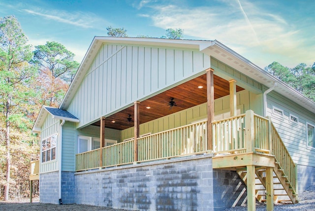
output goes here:
[[[206, 103], [206, 83], [206, 74], [204, 74], [140, 102], [140, 124], [176, 113], [189, 107]], [[203, 86], [203, 88], [198, 88], [198, 86]], [[239, 86], [236, 87], [237, 92], [241, 90], [244, 90], [244, 88]], [[214, 92], [215, 99], [229, 95], [229, 82], [214, 75]], [[174, 98], [174, 102], [176, 102], [177, 106], [172, 106], [170, 108], [168, 105], [170, 98]], [[151, 108], [148, 109], [147, 106], [150, 106]], [[130, 106], [118, 113], [106, 117], [105, 127], [116, 130], [125, 130], [133, 127], [133, 121], [129, 122], [127, 120], [128, 115], [130, 115], [132, 120], [134, 119], [134, 106]], [[112, 121], [115, 121], [115, 123]], [[100, 127], [100, 121], [97, 121], [92, 125]]]

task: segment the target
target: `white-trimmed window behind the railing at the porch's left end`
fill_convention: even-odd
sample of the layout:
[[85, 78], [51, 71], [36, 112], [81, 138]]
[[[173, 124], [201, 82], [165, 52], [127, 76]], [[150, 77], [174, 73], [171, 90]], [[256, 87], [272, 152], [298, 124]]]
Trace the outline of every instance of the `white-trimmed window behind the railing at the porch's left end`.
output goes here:
[[[84, 153], [90, 150], [95, 150], [100, 147], [100, 139], [89, 136], [78, 136], [78, 153]], [[105, 147], [117, 144], [117, 140], [105, 139]]]

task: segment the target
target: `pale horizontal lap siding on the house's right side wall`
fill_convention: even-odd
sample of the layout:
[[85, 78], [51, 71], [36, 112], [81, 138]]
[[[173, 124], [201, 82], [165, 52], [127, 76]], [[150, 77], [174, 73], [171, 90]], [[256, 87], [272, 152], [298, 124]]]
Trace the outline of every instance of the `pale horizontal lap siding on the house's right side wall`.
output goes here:
[[[283, 110], [283, 117], [274, 114], [273, 107]], [[290, 121], [290, 114], [298, 117], [297, 123]], [[267, 95], [267, 115], [271, 116], [294, 162], [315, 167], [315, 149], [307, 146], [306, 128], [307, 123], [315, 125], [315, 114], [273, 91]]]

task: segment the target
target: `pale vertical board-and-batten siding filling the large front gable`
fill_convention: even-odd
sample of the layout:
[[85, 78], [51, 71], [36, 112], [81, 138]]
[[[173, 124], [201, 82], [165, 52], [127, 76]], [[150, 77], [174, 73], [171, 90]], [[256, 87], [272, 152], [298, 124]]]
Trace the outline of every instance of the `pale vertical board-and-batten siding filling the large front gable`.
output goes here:
[[198, 50], [104, 44], [67, 111], [78, 128], [210, 68]]

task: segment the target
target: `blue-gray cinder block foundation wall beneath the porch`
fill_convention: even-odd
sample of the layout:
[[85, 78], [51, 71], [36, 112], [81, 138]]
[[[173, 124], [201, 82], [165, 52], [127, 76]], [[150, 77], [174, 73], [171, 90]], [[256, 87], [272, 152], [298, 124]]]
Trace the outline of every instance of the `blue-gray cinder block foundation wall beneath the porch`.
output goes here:
[[211, 155], [174, 158], [75, 173], [75, 202], [126, 210], [221, 211], [241, 192], [235, 180], [232, 173], [213, 171]]

